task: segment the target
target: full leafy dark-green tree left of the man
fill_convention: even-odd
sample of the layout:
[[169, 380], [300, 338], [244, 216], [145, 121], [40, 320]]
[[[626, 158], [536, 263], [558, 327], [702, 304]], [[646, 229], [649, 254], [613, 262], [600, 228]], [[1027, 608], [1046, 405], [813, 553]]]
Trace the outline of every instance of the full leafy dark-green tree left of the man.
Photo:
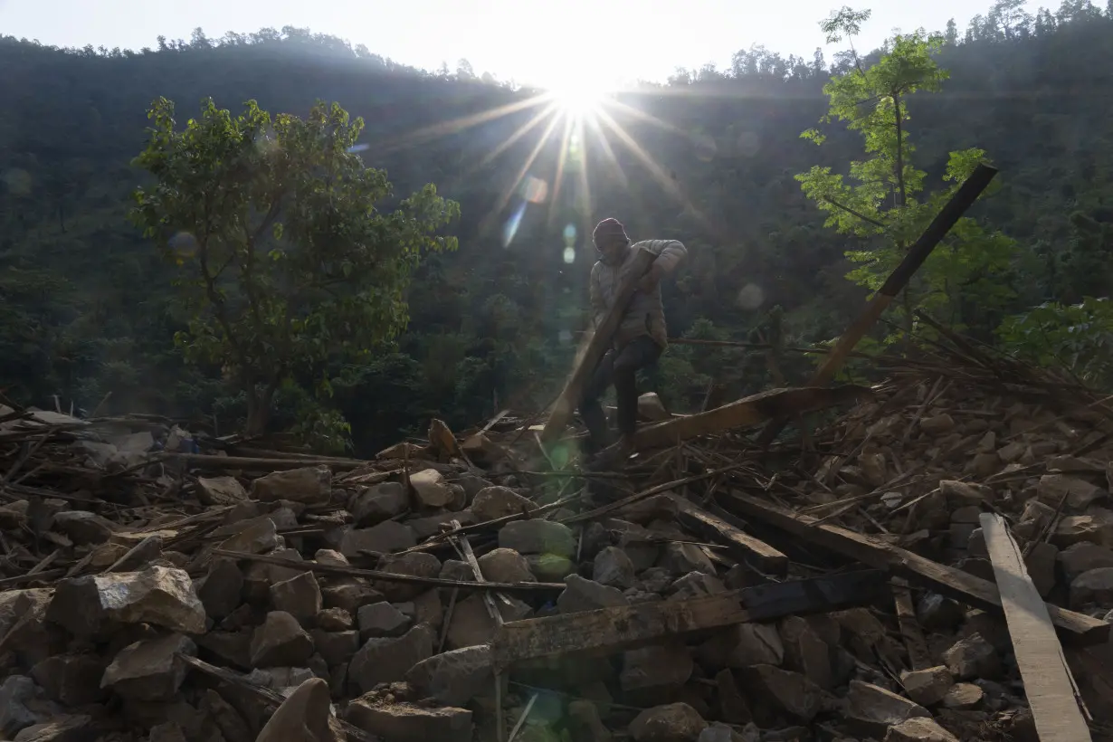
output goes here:
[[352, 154], [363, 120], [337, 103], [301, 119], [206, 100], [177, 130], [161, 98], [148, 116], [136, 164], [155, 182], [136, 190], [132, 217], [180, 267], [189, 324], [175, 339], [235, 379], [246, 429], [259, 433], [283, 385], [316, 378], [328, 394], [328, 363], [405, 327], [411, 275], [426, 251], [455, 249], [435, 231], [459, 206], [427, 185], [394, 211], [376, 208], [391, 184]]

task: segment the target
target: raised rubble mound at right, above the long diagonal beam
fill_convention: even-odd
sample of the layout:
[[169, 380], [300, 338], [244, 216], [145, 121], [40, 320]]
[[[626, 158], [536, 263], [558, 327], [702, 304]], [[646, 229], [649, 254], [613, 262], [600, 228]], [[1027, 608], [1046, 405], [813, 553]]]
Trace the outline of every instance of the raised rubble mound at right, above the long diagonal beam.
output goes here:
[[991, 581], [978, 518], [1002, 513], [1040, 594], [1105, 617], [1113, 610], [1111, 417], [1094, 406], [1055, 409], [978, 384], [925, 379], [859, 406], [828, 433], [853, 455], [827, 456], [810, 476], [782, 482], [801, 513], [834, 515]]

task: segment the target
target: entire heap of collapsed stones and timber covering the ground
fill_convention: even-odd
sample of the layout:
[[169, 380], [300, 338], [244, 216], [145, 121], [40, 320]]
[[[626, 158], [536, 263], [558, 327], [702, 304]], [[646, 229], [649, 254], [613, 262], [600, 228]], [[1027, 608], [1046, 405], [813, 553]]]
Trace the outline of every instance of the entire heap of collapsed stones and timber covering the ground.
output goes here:
[[864, 399], [768, 451], [646, 397], [676, 444], [617, 474], [509, 415], [358, 462], [0, 409], [0, 738], [1089, 739], [1110, 410], [964, 343], [886, 370], [728, 406]]

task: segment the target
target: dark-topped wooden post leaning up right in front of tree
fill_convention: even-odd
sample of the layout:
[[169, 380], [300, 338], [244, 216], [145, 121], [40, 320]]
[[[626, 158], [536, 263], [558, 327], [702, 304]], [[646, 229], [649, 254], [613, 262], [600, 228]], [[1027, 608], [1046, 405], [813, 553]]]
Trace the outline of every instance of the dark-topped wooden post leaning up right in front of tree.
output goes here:
[[[866, 333], [869, 332], [878, 317], [881, 316], [881, 313], [888, 308], [897, 294], [908, 285], [908, 281], [919, 270], [919, 267], [924, 265], [927, 256], [943, 241], [943, 238], [947, 236], [947, 233], [955, 226], [955, 222], [966, 212], [966, 209], [974, 205], [974, 201], [986, 189], [995, 175], [997, 175], [997, 169], [988, 165], [978, 165], [974, 169], [971, 177], [959, 186], [955, 195], [951, 197], [951, 200], [944, 205], [943, 209], [935, 216], [935, 219], [932, 220], [932, 224], [924, 230], [924, 234], [919, 236], [919, 239], [908, 249], [908, 254], [900, 261], [900, 265], [894, 268], [881, 288], [874, 294], [874, 297], [866, 305], [858, 319], [839, 336], [835, 347], [827, 354], [824, 365], [819, 367], [819, 370], [808, 382], [808, 386], [825, 386], [830, 384], [835, 375], [843, 368], [847, 356], [858, 345], [858, 342], [865, 337]], [[784, 417], [769, 421], [769, 424], [766, 425], [765, 429], [758, 436], [757, 443], [762, 446], [769, 445], [777, 437], [777, 434], [785, 428], [786, 423], [787, 419]]]

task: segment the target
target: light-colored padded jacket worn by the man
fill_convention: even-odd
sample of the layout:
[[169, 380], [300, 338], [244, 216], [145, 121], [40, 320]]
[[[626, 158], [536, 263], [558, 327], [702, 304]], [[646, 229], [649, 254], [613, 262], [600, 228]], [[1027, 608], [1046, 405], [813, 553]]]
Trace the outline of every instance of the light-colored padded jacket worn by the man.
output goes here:
[[[591, 309], [595, 316], [595, 326], [603, 320], [607, 310], [614, 304], [614, 297], [622, 285], [622, 279], [630, 273], [634, 254], [648, 250], [657, 256], [656, 265], [664, 269], [664, 277], [676, 273], [680, 264], [688, 257], [688, 248], [674, 239], [644, 239], [627, 248], [621, 264], [607, 265], [602, 260], [591, 268]], [[668, 332], [664, 327], [664, 307], [661, 304], [661, 286], [646, 294], [638, 289], [630, 300], [618, 332], [614, 334], [614, 346], [622, 347], [639, 335], [649, 335], [662, 348], [668, 346]]]

